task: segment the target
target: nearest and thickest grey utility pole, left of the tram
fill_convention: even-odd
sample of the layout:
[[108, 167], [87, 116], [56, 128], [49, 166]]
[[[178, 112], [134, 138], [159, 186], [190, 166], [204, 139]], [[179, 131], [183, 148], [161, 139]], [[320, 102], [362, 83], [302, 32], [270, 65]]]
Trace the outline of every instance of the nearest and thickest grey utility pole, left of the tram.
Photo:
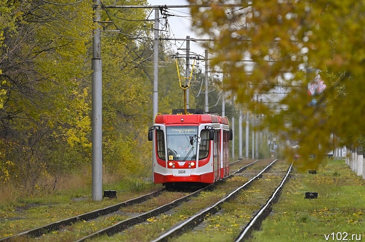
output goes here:
[[94, 201], [102, 200], [102, 76], [101, 76], [101, 19], [100, 0], [93, 0], [92, 59], [91, 59], [91, 197]]

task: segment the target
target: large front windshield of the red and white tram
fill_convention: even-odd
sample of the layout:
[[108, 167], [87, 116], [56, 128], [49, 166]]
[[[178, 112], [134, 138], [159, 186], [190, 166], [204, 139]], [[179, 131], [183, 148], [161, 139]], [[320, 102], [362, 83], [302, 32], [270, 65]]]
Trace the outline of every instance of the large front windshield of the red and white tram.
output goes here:
[[[167, 160], [196, 160], [197, 126], [166, 127]], [[190, 144], [190, 136], [193, 143]]]

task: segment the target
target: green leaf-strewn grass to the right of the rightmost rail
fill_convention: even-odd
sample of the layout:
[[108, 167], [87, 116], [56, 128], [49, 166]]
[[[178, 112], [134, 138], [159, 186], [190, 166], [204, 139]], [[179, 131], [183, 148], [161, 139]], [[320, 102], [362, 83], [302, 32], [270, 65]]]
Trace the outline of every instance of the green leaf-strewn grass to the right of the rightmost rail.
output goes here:
[[343, 160], [328, 159], [316, 172], [294, 170], [249, 242], [365, 241], [365, 181]]

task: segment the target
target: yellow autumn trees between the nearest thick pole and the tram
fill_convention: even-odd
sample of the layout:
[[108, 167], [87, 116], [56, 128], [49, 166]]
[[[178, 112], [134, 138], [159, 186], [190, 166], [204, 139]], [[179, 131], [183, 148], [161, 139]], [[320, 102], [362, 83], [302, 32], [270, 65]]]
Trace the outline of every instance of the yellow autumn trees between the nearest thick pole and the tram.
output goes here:
[[[123, 1], [106, 1], [123, 5]], [[128, 4], [143, 5], [144, 0]], [[142, 8], [106, 8], [101, 16], [105, 25], [102, 38], [103, 59], [103, 164], [106, 171], [140, 174], [148, 171], [145, 163], [149, 149], [146, 142], [151, 85], [143, 66], [153, 66], [148, 58]], [[114, 34], [113, 34], [114, 33]], [[144, 40], [144, 41], [143, 41]], [[153, 53], [153, 52], [152, 52]], [[149, 164], [148, 164], [149, 165]]]

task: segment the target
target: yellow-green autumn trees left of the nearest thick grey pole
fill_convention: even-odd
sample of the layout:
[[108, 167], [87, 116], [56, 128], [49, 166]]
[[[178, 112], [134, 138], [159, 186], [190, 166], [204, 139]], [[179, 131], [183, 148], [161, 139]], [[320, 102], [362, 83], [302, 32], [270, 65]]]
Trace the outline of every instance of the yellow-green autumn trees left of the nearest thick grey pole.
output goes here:
[[[11, 9], [1, 11], [2, 16], [14, 20], [3, 29], [0, 49], [6, 90], [0, 110], [0, 170], [7, 172], [7, 182], [33, 192], [49, 174], [82, 163], [90, 152], [89, 88], [82, 79], [89, 69], [79, 57], [86, 53], [92, 23], [82, 25], [77, 18], [91, 17], [91, 9], [80, 3], [82, 14], [77, 15], [69, 9], [74, 5], [1, 4]], [[75, 150], [81, 152], [67, 152]]]

